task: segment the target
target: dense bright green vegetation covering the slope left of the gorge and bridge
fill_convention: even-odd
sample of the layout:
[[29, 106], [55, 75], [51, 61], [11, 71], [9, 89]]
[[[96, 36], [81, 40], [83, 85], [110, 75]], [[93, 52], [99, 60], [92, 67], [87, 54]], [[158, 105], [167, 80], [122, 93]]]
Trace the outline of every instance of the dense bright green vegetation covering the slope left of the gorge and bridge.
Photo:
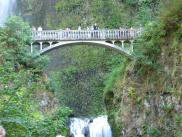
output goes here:
[[[29, 41], [30, 27], [18, 17], [0, 28], [0, 123], [9, 137], [65, 134], [70, 109], [53, 102], [43, 77], [46, 60], [29, 53]], [[41, 101], [55, 105], [48, 108]]]

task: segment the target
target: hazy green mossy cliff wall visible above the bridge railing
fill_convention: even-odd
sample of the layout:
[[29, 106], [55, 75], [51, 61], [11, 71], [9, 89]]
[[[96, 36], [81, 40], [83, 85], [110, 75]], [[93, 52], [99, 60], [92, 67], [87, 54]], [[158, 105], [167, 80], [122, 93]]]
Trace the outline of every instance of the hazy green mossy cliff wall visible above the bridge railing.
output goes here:
[[[77, 29], [98, 23], [101, 28], [145, 25], [162, 0], [19, 0], [18, 12], [34, 26]], [[38, 7], [36, 5], [39, 5]]]

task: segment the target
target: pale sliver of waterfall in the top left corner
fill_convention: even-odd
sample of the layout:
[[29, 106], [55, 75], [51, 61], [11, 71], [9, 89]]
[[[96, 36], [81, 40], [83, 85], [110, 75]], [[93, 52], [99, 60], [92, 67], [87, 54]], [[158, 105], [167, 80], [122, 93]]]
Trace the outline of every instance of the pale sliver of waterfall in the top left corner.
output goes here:
[[5, 19], [12, 14], [13, 7], [15, 5], [15, 0], [0, 0], [0, 24], [5, 21]]

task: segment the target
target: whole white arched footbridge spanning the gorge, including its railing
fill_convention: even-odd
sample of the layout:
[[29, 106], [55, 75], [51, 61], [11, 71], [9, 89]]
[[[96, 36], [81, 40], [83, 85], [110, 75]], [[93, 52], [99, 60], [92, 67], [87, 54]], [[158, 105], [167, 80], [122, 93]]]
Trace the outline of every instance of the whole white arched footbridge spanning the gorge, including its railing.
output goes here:
[[133, 42], [141, 29], [32, 31], [31, 52], [44, 54], [70, 45], [94, 45], [114, 49], [132, 58]]

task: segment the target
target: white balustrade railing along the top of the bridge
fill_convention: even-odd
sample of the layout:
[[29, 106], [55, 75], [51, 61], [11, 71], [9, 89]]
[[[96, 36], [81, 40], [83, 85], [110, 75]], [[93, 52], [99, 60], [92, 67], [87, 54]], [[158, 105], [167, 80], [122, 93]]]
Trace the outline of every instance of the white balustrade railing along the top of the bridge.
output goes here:
[[131, 40], [141, 29], [42, 30], [32, 31], [33, 41]]

